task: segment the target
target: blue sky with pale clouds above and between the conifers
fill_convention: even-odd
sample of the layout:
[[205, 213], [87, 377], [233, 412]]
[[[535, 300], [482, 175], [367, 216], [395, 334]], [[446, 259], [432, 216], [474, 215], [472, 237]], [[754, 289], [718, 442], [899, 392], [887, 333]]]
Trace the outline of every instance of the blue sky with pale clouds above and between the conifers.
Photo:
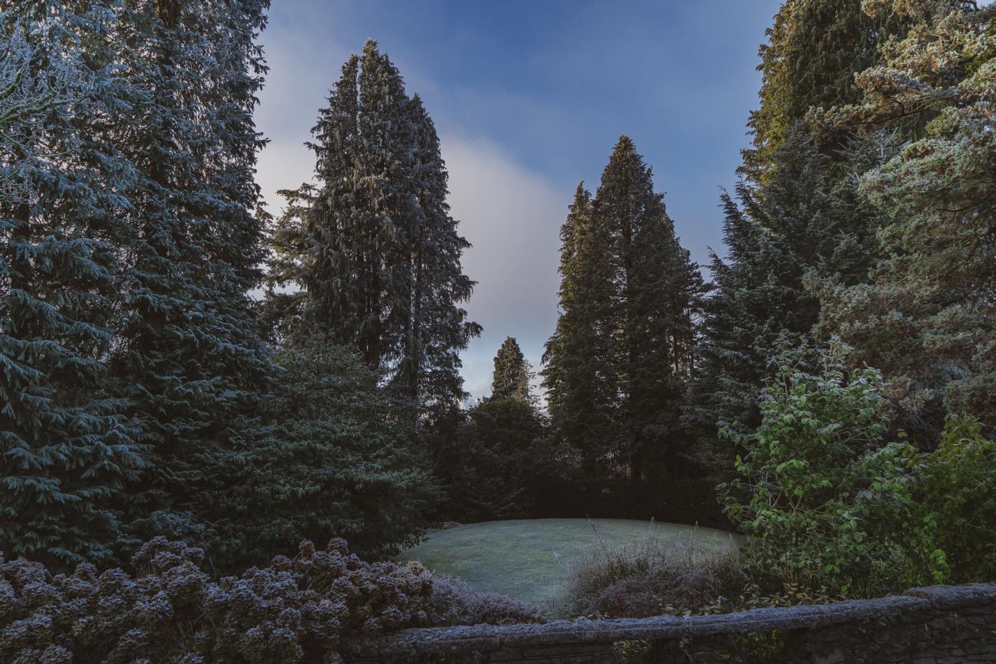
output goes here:
[[736, 181], [757, 106], [757, 48], [777, 0], [275, 0], [262, 37], [271, 71], [257, 126], [258, 180], [311, 177], [303, 143], [340, 67], [372, 37], [436, 124], [450, 203], [474, 247], [467, 305], [484, 334], [466, 388], [490, 391], [506, 336], [539, 367], [557, 319], [558, 232], [579, 180], [594, 191], [621, 134], [653, 167], [695, 260], [721, 249], [718, 187]]

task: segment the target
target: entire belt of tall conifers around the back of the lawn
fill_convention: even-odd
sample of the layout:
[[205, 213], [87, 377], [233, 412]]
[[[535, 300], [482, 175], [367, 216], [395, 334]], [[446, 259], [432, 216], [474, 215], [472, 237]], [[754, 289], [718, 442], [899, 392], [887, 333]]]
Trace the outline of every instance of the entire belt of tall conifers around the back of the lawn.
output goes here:
[[480, 327], [432, 120], [368, 42], [319, 111], [316, 183], [271, 217], [267, 5], [0, 13], [6, 555], [108, 565], [165, 534], [225, 571], [305, 537], [385, 556], [446, 519], [723, 524], [714, 488], [804, 342], [881, 370], [922, 452], [951, 415], [992, 436], [990, 6], [785, 2], [708, 273], [623, 136], [561, 229], [546, 408], [509, 338], [464, 409]]

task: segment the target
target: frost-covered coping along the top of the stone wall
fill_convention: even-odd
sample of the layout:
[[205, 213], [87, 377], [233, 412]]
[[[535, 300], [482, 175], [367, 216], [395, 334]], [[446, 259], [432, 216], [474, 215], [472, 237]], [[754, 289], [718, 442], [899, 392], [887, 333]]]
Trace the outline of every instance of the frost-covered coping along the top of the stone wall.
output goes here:
[[630, 639], [690, 638], [776, 629], [810, 629], [872, 617], [899, 619], [902, 614], [914, 611], [949, 611], [986, 604], [996, 604], [996, 583], [935, 585], [911, 588], [901, 595], [876, 599], [757, 608], [716, 615], [412, 628], [388, 636], [346, 640], [342, 652], [349, 657], [364, 659], [388, 653], [442, 655], [560, 643], [605, 644]]

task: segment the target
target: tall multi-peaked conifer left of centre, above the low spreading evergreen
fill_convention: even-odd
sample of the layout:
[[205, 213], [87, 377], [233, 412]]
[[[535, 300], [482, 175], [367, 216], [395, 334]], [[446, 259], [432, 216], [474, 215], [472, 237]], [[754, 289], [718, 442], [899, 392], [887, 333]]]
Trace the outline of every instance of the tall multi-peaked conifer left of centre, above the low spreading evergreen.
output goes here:
[[273, 232], [280, 306], [354, 346], [422, 408], [463, 395], [459, 351], [480, 333], [459, 303], [473, 282], [469, 246], [446, 203], [446, 169], [428, 114], [368, 41], [329, 96], [313, 133], [317, 188], [287, 192]]

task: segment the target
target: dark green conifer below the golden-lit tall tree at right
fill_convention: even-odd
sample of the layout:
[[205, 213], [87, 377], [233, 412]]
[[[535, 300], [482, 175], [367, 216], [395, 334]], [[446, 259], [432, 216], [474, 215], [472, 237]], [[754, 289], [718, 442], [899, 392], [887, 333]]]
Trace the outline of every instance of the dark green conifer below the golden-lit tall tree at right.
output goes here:
[[[727, 255], [712, 253], [713, 292], [704, 302], [686, 410], [702, 436], [696, 457], [713, 474], [732, 470], [733, 451], [716, 438], [718, 429], [760, 424], [757, 402], [776, 341], [798, 341], [819, 320], [821, 301], [807, 284], [823, 277], [861, 283], [874, 260], [869, 234], [880, 215], [858, 194], [855, 178], [839, 178], [833, 160], [799, 127], [775, 158], [779, 167], [766, 182], [741, 180], [736, 199], [722, 195]], [[850, 163], [868, 159], [854, 146]]]

